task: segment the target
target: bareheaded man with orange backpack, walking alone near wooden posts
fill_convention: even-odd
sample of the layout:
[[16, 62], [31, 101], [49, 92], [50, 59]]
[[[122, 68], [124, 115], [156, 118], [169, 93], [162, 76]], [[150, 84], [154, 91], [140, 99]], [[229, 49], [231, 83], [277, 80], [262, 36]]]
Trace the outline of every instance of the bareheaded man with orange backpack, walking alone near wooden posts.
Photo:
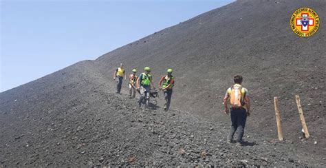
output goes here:
[[246, 125], [247, 116], [250, 116], [250, 98], [248, 90], [242, 87], [242, 76], [236, 75], [234, 77], [235, 85], [228, 88], [226, 96], [224, 97], [225, 114], [229, 114], [228, 103], [230, 103], [231, 111], [231, 129], [228, 135], [227, 143], [232, 143], [233, 136], [238, 130], [237, 145], [242, 145], [242, 137]]

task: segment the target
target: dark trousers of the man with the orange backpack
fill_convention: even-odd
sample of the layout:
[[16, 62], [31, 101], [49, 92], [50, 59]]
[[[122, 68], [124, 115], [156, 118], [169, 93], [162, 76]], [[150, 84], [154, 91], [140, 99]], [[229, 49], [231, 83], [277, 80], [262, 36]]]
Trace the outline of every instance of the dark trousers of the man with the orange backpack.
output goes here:
[[247, 120], [247, 114], [246, 114], [246, 109], [244, 108], [239, 108], [239, 109], [232, 109], [231, 108], [231, 129], [230, 129], [230, 134], [228, 135], [228, 139], [231, 140], [233, 139], [233, 136], [235, 135], [235, 132], [238, 130], [238, 136], [237, 136], [237, 141], [241, 142], [242, 137], [244, 134], [244, 128], [246, 125], [246, 120]]

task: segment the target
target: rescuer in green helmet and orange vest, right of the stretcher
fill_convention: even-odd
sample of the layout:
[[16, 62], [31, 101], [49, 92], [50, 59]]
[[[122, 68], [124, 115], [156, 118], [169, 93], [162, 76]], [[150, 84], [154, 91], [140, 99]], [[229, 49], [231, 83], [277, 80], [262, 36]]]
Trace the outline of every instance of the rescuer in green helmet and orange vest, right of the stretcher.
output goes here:
[[[164, 98], [165, 98], [165, 104], [164, 104], [164, 110], [168, 111], [171, 104], [171, 97], [173, 92], [173, 86], [174, 86], [174, 77], [172, 76], [172, 69], [167, 70], [167, 74], [162, 76], [160, 79], [160, 83], [158, 84], [158, 87], [160, 90], [163, 91]], [[163, 83], [163, 85], [162, 85]]]

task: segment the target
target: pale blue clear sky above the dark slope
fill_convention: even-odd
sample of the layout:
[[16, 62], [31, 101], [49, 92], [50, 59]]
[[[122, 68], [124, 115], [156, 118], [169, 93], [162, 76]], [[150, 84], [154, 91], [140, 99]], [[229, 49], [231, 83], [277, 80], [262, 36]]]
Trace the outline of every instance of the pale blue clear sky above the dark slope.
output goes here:
[[0, 0], [0, 92], [230, 2]]

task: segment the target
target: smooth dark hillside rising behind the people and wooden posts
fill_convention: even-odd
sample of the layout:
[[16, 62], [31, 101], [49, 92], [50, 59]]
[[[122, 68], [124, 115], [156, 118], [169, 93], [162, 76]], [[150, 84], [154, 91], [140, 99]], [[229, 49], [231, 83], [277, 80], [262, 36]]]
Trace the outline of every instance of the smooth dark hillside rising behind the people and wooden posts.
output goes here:
[[[320, 28], [309, 38], [290, 28], [292, 12], [303, 6], [320, 16]], [[277, 137], [274, 96], [278, 96], [284, 137], [299, 147], [309, 145], [312, 153], [326, 151], [325, 9], [326, 1], [237, 1], [113, 50], [96, 63], [110, 75], [118, 63], [129, 67], [128, 72], [150, 66], [155, 83], [171, 67], [176, 80], [172, 108], [216, 122], [229, 120], [222, 113], [222, 99], [232, 77], [242, 74], [254, 114], [248, 130]], [[312, 134], [309, 144], [299, 139], [295, 94], [301, 97]], [[313, 145], [315, 140], [318, 145]]]

